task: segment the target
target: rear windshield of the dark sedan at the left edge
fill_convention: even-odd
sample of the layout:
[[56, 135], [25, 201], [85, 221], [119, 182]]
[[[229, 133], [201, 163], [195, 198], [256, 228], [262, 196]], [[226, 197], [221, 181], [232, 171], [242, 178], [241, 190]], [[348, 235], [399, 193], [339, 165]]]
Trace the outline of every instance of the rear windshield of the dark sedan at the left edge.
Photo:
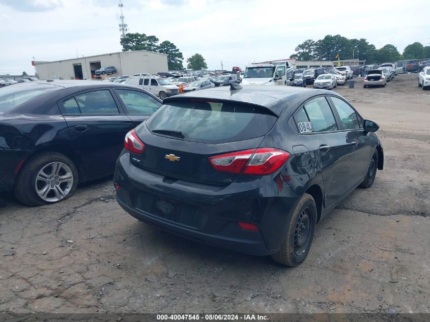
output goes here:
[[0, 112], [6, 112], [32, 98], [61, 89], [47, 84], [22, 83], [0, 89]]

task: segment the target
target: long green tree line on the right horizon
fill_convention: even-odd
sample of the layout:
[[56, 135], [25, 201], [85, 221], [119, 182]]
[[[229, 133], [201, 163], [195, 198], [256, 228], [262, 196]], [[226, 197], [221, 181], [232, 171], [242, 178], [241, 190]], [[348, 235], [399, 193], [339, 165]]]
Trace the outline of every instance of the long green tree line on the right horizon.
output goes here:
[[411, 60], [430, 57], [430, 46], [423, 46], [414, 42], [406, 46], [402, 54], [392, 44], [387, 44], [379, 49], [370, 44], [366, 39], [348, 39], [340, 35], [327, 35], [323, 39], [314, 41], [305, 40], [294, 49], [296, 53], [290, 58], [298, 61], [335, 61], [336, 54], [339, 58], [359, 58], [360, 61], [371, 63], [394, 62], [398, 60]]

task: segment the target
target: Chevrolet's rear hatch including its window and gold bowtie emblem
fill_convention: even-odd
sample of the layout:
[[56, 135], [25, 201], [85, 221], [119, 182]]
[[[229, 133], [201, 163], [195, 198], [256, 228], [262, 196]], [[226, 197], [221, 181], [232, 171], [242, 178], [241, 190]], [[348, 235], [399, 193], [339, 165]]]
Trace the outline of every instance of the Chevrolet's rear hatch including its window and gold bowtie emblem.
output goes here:
[[208, 158], [258, 148], [276, 120], [269, 109], [257, 105], [170, 100], [136, 128], [145, 151], [131, 154], [131, 161], [167, 179], [225, 186], [238, 174], [217, 171]]

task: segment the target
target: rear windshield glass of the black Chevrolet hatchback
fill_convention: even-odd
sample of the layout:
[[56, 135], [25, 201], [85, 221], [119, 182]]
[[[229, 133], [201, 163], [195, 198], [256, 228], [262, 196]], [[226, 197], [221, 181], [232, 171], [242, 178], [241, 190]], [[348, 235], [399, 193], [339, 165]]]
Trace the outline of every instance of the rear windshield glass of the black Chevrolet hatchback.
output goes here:
[[173, 101], [163, 105], [147, 127], [150, 131], [180, 131], [186, 141], [225, 143], [265, 135], [276, 120], [268, 110], [248, 104]]

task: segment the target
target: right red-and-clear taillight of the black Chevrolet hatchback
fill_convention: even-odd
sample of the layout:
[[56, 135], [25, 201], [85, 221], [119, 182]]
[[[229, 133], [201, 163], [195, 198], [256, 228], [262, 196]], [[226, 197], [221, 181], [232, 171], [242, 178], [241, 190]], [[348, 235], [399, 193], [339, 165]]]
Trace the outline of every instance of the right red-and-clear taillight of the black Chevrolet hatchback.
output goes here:
[[267, 175], [279, 169], [288, 158], [288, 152], [261, 148], [210, 157], [209, 162], [215, 169], [223, 172]]

